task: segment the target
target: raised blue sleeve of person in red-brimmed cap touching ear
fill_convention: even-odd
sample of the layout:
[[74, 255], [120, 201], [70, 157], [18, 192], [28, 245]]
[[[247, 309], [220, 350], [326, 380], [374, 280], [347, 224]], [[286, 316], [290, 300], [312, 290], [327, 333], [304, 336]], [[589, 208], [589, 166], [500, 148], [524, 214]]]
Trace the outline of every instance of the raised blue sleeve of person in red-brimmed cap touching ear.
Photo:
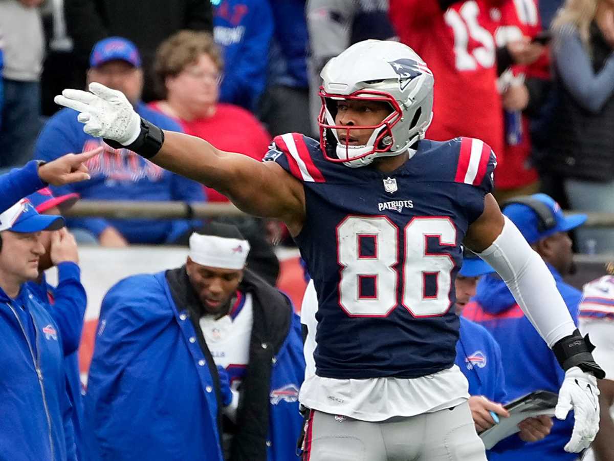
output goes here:
[[50, 313], [60, 329], [64, 355], [70, 355], [79, 349], [87, 305], [81, 270], [74, 262], [58, 264], [58, 286], [54, 296]]

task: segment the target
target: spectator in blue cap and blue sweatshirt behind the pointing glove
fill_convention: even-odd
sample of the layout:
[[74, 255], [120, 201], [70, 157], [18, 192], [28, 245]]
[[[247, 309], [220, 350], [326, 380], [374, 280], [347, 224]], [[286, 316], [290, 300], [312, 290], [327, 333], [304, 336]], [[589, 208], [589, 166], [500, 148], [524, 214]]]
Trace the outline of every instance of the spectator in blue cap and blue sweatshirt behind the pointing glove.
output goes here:
[[[166, 130], [181, 131], [177, 122], [148, 108], [140, 101], [143, 85], [141, 58], [134, 44], [121, 37], [104, 39], [91, 52], [88, 83], [100, 82], [124, 93], [136, 111]], [[36, 144], [36, 158], [53, 160], [70, 151], [104, 151], [88, 161], [90, 181], [54, 189], [58, 195], [78, 192], [83, 199], [97, 200], [184, 200], [201, 202], [203, 189], [189, 179], [174, 175], [126, 149], [112, 149], [101, 139], [85, 134], [75, 112], [63, 109], [42, 130]], [[101, 245], [173, 242], [190, 223], [186, 220], [153, 219], [71, 219], [69, 226], [84, 229]]]

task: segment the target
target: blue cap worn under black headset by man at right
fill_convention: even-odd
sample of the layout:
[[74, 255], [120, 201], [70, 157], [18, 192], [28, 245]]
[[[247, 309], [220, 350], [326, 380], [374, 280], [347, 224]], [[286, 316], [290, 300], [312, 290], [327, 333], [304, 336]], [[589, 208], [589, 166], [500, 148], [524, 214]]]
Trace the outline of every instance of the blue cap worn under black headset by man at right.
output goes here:
[[503, 215], [510, 218], [510, 221], [516, 224], [523, 237], [527, 242], [533, 244], [542, 240], [542, 238], [550, 237], [557, 232], [568, 232], [575, 229], [586, 222], [586, 215], [569, 215], [565, 216], [561, 207], [554, 201], [552, 197], [546, 194], [533, 194], [528, 197], [530, 200], [537, 200], [543, 203], [551, 217], [554, 219], [553, 227], [550, 229], [544, 228], [543, 219], [540, 218], [534, 208], [525, 203], [511, 203], [503, 208]]

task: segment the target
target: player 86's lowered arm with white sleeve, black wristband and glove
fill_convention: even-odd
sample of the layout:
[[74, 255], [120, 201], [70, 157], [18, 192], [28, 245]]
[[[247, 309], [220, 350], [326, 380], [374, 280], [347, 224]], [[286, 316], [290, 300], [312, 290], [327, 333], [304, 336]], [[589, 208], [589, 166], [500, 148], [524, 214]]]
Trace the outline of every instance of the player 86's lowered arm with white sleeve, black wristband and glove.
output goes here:
[[565, 419], [573, 408], [575, 423], [565, 450], [585, 449], [599, 430], [596, 377], [603, 378], [605, 373], [593, 359], [594, 347], [588, 337], [580, 336], [575, 327], [550, 270], [516, 226], [502, 215], [491, 194], [484, 199], [483, 214], [467, 231], [465, 244], [503, 278], [565, 370], [555, 416]]

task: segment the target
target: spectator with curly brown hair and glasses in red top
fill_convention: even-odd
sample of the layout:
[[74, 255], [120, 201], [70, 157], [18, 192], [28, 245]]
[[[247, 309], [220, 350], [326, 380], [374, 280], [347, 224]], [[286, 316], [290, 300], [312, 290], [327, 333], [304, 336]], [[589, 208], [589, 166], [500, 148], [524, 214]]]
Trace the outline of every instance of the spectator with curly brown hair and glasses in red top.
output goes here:
[[[222, 151], [262, 160], [271, 136], [246, 109], [218, 101], [223, 61], [210, 34], [181, 31], [169, 37], [160, 45], [155, 71], [164, 99], [150, 104], [153, 109]], [[206, 191], [210, 202], [228, 201], [214, 189]]]

